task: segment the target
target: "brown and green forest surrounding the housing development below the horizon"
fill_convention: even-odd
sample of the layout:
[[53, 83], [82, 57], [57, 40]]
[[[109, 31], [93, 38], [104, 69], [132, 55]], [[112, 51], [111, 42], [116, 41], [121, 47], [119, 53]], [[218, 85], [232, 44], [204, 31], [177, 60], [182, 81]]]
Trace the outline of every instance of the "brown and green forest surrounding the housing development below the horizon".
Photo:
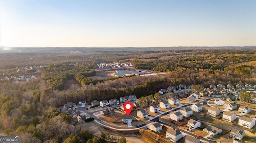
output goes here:
[[[80, 125], [71, 124], [70, 117], [60, 114], [58, 109], [66, 102], [86, 100], [90, 103], [135, 94], [137, 98], [144, 98], [138, 101], [143, 104], [149, 97], [156, 101], [160, 99], [156, 94], [159, 89], [177, 84], [202, 84], [205, 88], [220, 83], [256, 84], [255, 49], [92, 51], [84, 55], [28, 53], [27, 56], [24, 53], [0, 55], [1, 75], [15, 73], [14, 68], [20, 66], [47, 65], [40, 69], [41, 77], [30, 82], [16, 84], [12, 79], [0, 80], [0, 133], [21, 135], [22, 139], [27, 139], [24, 142], [103, 143], [121, 140], [111, 139], [106, 133], [93, 136], [90, 131], [81, 130]], [[133, 63], [134, 68], [166, 74], [91, 78], [98, 70], [97, 64], [126, 61]], [[77, 84], [64, 88], [65, 82], [71, 79]], [[246, 95], [242, 96], [246, 98]]]

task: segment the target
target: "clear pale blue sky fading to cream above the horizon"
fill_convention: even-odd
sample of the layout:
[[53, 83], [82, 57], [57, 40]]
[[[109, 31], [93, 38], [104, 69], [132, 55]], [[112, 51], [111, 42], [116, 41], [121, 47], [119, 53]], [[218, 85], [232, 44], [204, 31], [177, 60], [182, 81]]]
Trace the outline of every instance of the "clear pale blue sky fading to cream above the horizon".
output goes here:
[[256, 0], [0, 0], [0, 46], [256, 46]]

